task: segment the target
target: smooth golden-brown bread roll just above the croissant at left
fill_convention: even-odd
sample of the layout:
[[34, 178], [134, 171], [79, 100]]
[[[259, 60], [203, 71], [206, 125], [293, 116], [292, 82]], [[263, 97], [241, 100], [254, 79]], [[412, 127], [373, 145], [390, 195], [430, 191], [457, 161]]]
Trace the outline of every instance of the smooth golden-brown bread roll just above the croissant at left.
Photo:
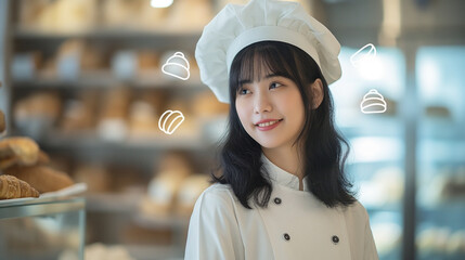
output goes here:
[[13, 165], [35, 165], [39, 158], [39, 146], [29, 138], [0, 140], [0, 169]]

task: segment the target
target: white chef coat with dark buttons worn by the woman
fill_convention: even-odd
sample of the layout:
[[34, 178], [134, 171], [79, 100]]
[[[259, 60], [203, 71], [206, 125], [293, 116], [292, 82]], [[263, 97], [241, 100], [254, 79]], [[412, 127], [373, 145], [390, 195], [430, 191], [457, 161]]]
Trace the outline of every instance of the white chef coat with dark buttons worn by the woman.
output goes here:
[[230, 185], [212, 184], [195, 204], [184, 259], [378, 259], [359, 202], [327, 208], [306, 181], [299, 191], [298, 177], [261, 158], [273, 185], [268, 208], [246, 209]]

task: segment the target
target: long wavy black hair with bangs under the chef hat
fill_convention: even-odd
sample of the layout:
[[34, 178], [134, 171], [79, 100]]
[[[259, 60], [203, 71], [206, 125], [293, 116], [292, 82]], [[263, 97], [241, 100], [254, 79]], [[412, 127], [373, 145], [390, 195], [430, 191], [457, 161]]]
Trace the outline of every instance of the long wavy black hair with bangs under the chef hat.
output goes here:
[[[254, 62], [258, 64], [254, 65]], [[349, 145], [335, 129], [333, 99], [326, 80], [310, 55], [279, 41], [250, 44], [241, 50], [231, 64], [228, 132], [219, 153], [219, 176], [212, 173], [211, 182], [230, 184], [241, 204], [248, 209], [251, 209], [250, 198], [260, 207], [268, 206], [273, 187], [269, 173], [262, 167], [261, 146], [245, 131], [235, 106], [240, 80], [254, 79], [255, 68], [261, 65], [271, 73], [292, 79], [300, 91], [306, 109], [305, 125], [297, 141], [303, 153], [303, 173], [309, 177], [310, 192], [327, 207], [352, 204], [356, 200], [350, 191], [352, 184], [344, 171]], [[323, 82], [324, 98], [320, 106], [312, 109], [313, 94], [309, 86], [318, 78]]]

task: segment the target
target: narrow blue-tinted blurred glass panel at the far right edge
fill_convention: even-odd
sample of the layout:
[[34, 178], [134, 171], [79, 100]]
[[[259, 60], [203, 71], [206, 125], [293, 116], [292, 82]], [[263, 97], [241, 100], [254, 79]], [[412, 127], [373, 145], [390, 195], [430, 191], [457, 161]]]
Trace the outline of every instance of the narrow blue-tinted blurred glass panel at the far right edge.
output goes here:
[[416, 54], [418, 259], [465, 259], [465, 47]]

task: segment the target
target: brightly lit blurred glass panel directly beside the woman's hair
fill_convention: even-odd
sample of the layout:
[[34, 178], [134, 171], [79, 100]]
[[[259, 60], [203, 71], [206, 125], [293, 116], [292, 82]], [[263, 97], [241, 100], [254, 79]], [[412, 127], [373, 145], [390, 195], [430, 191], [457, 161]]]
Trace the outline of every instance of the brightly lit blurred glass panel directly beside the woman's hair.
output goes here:
[[[399, 49], [341, 49], [343, 77], [331, 86], [336, 122], [349, 141], [347, 172], [369, 212], [379, 259], [401, 259], [405, 136], [399, 106], [405, 60]], [[372, 57], [362, 62], [356, 55]]]

